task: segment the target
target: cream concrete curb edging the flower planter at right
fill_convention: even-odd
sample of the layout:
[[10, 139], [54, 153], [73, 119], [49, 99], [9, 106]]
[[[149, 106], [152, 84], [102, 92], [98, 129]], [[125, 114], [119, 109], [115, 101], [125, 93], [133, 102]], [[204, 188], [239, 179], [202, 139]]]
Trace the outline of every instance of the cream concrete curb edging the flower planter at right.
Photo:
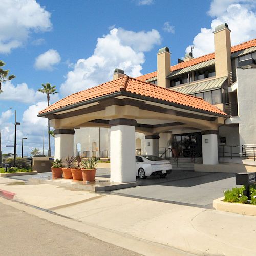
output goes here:
[[213, 201], [213, 206], [216, 210], [233, 212], [234, 214], [244, 214], [256, 216], [256, 205], [239, 204], [223, 202], [224, 197], [220, 197]]

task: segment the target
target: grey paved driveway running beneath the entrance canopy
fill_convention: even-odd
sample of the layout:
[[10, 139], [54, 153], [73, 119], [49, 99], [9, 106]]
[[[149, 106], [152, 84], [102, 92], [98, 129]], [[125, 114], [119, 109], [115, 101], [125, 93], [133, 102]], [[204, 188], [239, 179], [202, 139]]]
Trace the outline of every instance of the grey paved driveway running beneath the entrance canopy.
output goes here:
[[[109, 168], [97, 169], [96, 176], [110, 177]], [[12, 177], [15, 180], [27, 181], [29, 178], [51, 178], [51, 173], [39, 173]], [[134, 188], [112, 191], [127, 197], [190, 205], [195, 207], [212, 208], [212, 200], [222, 197], [223, 191], [236, 186], [234, 173], [207, 173], [173, 170], [166, 178], [147, 177], [145, 180], [137, 178], [141, 183]], [[238, 185], [239, 186], [239, 185]]]

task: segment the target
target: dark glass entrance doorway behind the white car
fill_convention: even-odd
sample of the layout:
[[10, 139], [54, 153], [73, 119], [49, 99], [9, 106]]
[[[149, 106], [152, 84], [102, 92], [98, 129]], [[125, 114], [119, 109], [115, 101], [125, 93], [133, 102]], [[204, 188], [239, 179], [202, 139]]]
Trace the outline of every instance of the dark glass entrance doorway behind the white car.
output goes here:
[[172, 148], [177, 149], [180, 157], [202, 157], [201, 133], [174, 134]]

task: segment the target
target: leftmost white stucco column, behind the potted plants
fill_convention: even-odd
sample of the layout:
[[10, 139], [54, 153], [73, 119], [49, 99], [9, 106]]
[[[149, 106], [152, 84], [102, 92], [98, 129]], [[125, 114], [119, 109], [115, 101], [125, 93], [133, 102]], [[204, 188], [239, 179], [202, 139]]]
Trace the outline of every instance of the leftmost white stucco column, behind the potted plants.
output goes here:
[[55, 153], [54, 159], [64, 159], [74, 156], [74, 129], [55, 129]]

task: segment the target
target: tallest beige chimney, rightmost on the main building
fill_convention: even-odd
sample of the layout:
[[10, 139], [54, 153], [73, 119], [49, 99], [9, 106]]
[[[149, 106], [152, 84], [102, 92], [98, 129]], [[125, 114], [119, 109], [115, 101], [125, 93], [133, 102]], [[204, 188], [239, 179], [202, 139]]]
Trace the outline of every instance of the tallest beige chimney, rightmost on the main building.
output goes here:
[[215, 74], [216, 78], [228, 77], [232, 71], [231, 68], [231, 42], [230, 30], [228, 25], [221, 24], [214, 31], [214, 48], [215, 48]]

